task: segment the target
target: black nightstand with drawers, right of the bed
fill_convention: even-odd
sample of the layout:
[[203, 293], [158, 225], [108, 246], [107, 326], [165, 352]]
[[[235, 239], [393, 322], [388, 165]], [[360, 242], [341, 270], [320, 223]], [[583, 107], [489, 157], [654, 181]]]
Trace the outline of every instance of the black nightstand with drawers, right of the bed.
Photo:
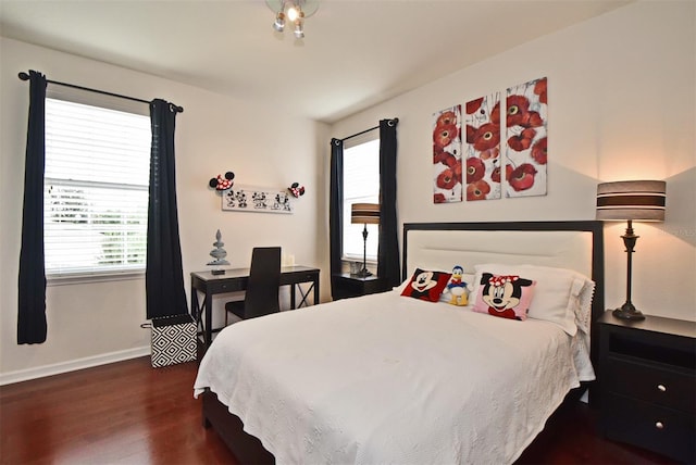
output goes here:
[[601, 432], [696, 462], [696, 323], [609, 311], [598, 323]]

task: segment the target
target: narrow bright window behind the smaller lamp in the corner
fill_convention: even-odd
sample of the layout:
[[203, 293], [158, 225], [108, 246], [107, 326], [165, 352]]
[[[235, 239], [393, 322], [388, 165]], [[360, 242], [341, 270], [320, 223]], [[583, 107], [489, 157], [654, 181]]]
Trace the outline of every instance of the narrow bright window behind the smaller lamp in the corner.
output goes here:
[[[374, 137], [374, 133], [373, 136]], [[349, 144], [349, 142], [352, 142]], [[350, 205], [380, 203], [380, 139], [349, 140], [344, 147], [344, 260], [363, 257], [364, 225], [350, 223]], [[366, 257], [377, 260], [380, 225], [368, 225]]]

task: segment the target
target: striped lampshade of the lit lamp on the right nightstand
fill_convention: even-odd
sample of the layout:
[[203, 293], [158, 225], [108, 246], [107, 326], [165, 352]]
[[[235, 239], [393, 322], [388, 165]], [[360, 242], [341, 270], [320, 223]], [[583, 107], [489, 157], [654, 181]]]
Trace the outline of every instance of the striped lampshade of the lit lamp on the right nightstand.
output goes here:
[[621, 180], [597, 186], [597, 219], [663, 222], [667, 183]]

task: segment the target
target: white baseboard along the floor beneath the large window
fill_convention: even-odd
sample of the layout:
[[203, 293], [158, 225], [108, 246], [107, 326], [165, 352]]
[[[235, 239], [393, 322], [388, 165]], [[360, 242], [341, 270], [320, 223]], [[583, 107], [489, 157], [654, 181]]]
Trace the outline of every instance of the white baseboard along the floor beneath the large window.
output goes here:
[[150, 345], [0, 374], [0, 386], [150, 355]]

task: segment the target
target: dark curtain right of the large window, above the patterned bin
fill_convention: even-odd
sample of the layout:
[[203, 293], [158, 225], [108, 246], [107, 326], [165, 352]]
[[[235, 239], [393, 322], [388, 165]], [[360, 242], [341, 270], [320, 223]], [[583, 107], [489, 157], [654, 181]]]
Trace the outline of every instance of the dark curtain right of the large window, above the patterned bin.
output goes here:
[[156, 99], [150, 103], [152, 148], [145, 273], [148, 319], [188, 313], [176, 213], [176, 111], [164, 100]]

